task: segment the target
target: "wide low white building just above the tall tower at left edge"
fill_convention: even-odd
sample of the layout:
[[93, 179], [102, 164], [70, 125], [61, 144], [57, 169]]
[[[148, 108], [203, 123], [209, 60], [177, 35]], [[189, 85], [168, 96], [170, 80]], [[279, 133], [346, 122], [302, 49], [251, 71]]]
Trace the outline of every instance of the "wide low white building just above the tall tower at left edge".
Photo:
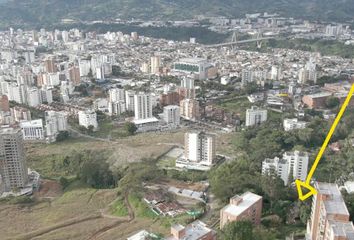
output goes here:
[[25, 121], [20, 123], [20, 127], [24, 140], [43, 140], [43, 121], [42, 119], [36, 119], [32, 121]]

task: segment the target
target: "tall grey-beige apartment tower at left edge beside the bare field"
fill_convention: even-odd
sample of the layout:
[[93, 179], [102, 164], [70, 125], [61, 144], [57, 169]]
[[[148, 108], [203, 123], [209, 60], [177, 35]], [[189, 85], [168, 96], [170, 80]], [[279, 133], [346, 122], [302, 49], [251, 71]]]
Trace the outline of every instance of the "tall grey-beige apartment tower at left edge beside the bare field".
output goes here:
[[0, 175], [5, 190], [24, 187], [28, 172], [21, 129], [0, 129]]

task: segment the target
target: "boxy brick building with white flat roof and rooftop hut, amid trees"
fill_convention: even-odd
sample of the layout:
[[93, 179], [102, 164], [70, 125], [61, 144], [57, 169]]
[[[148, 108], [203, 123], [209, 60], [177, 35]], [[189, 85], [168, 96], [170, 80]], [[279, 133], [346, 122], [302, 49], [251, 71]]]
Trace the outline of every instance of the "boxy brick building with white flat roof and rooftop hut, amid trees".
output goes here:
[[260, 224], [262, 216], [262, 197], [246, 192], [230, 198], [230, 203], [220, 210], [220, 228], [236, 221], [251, 221]]

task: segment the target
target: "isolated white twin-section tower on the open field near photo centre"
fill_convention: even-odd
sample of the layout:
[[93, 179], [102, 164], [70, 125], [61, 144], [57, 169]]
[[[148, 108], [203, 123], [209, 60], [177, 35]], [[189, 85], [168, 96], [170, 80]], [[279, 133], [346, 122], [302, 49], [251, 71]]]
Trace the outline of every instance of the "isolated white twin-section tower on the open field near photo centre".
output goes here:
[[188, 132], [184, 135], [184, 158], [191, 162], [213, 165], [215, 162], [215, 136], [205, 132]]

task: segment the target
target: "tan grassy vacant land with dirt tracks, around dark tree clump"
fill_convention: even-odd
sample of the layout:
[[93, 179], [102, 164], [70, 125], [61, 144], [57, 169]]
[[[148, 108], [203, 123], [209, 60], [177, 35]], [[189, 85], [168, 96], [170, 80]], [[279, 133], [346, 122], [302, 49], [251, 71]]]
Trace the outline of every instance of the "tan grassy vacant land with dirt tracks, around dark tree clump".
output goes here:
[[[77, 152], [102, 151], [103, 155], [109, 155], [112, 165], [120, 165], [156, 158], [182, 143], [183, 131], [139, 134], [117, 142], [80, 138], [49, 145], [35, 143], [27, 144], [26, 150], [29, 167], [44, 177], [58, 179], [67, 173], [56, 164]], [[118, 213], [116, 217], [102, 215], [103, 210], [117, 199], [114, 189], [97, 190], [74, 183], [63, 192], [57, 182], [46, 180], [36, 197], [39, 200], [30, 205], [0, 203], [1, 240], [108, 240], [126, 239], [140, 229], [169, 232], [156, 219], [119, 217], [126, 215], [124, 208], [124, 214]]]

